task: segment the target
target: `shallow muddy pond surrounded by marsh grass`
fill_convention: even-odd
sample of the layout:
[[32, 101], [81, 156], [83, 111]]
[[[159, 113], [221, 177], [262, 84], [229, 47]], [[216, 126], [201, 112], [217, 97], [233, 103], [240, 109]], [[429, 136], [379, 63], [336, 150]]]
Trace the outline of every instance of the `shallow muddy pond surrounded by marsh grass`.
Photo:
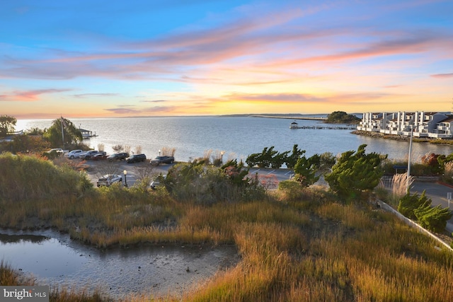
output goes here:
[[[51, 234], [49, 234], [51, 235]], [[231, 246], [145, 246], [96, 250], [52, 234], [3, 234], [0, 259], [32, 274], [38, 284], [101, 289], [114, 298], [130, 294], [180, 294], [237, 261]]]

